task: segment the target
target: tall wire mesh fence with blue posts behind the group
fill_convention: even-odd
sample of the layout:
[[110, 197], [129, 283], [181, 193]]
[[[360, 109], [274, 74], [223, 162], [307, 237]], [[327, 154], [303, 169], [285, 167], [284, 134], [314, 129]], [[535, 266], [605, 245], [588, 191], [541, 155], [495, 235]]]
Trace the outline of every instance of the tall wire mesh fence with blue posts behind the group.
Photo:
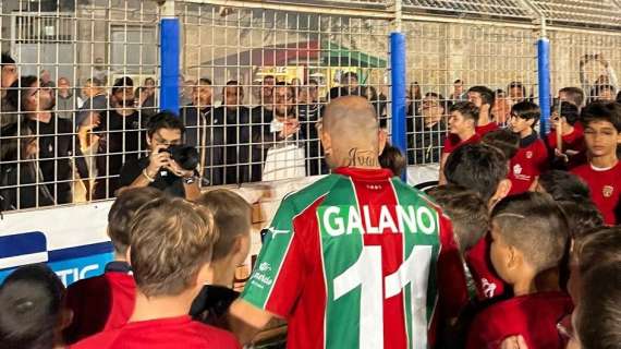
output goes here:
[[[610, 97], [621, 68], [614, 0], [0, 0], [0, 8], [1, 48], [16, 61], [2, 62], [4, 210], [112, 197], [121, 166], [148, 148], [145, 128], [160, 107], [185, 122], [205, 185], [240, 184], [326, 173], [315, 123], [339, 95], [367, 97], [409, 164], [419, 165], [438, 161], [448, 106], [468, 86], [496, 92], [499, 123], [515, 101], [540, 103], [545, 131], [556, 91]], [[11, 67], [36, 79], [11, 87]], [[297, 129], [282, 139], [284, 123]]]

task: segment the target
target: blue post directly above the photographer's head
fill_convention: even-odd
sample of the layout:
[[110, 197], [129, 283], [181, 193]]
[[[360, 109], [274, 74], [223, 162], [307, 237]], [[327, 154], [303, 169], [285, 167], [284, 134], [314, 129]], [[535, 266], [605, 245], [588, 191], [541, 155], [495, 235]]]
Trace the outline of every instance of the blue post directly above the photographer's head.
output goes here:
[[165, 17], [160, 22], [160, 109], [179, 113], [179, 19]]

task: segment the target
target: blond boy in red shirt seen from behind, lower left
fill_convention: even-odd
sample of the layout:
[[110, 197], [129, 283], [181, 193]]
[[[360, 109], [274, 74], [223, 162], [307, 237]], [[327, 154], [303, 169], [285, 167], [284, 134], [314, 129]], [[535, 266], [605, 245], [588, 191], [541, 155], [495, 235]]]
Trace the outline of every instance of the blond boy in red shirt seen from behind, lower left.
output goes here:
[[240, 348], [233, 335], [193, 321], [187, 313], [210, 265], [218, 230], [211, 213], [181, 198], [144, 205], [130, 226], [130, 263], [136, 303], [124, 326], [86, 338], [73, 348]]

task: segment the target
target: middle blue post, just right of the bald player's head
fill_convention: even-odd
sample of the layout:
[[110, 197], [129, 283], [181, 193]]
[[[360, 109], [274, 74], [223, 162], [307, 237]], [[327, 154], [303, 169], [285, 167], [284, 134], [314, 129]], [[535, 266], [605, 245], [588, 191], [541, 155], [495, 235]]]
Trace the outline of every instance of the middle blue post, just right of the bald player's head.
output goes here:
[[[405, 127], [405, 35], [399, 32], [390, 34], [390, 82], [392, 96], [392, 145], [398, 147], [407, 159], [407, 140]], [[406, 180], [406, 171], [401, 177]]]

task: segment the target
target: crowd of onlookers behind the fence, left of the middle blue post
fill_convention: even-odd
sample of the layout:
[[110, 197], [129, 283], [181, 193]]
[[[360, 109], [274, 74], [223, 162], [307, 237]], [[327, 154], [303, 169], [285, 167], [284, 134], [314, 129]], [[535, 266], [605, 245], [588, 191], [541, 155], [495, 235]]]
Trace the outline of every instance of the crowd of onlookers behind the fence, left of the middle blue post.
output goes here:
[[[131, 77], [121, 76], [108, 92], [107, 76], [93, 76], [78, 96], [66, 77], [56, 84], [49, 71], [17, 76], [15, 61], [7, 53], [1, 67], [3, 210], [70, 203], [78, 200], [78, 186], [81, 201], [114, 197], [135, 179], [124, 178], [125, 165], [139, 160], [142, 170], [149, 165], [147, 158], [156, 157], [143, 155], [171, 144], [197, 149], [200, 166], [185, 179], [202, 186], [325, 174], [328, 169], [315, 124], [325, 101], [337, 96], [366, 96], [386, 124], [386, 96], [362, 86], [354, 72], [344, 73], [341, 85], [325, 98], [314, 80], [288, 84], [265, 75], [255, 107], [245, 103], [244, 86], [238, 81], [228, 81], [216, 103], [211, 80], [203, 77], [186, 82], [193, 84], [190, 92], [181, 89], [182, 122], [172, 127], [181, 136], [160, 140], [162, 147], [157, 146], [159, 129], [150, 129], [160, 128], [154, 120], [158, 111], [154, 79], [138, 87]], [[163, 129], [170, 130], [168, 124]], [[151, 182], [168, 174], [169, 181], [179, 177], [173, 169], [158, 173], [151, 168], [149, 173], [144, 179]], [[175, 192], [184, 194], [179, 188]]]

